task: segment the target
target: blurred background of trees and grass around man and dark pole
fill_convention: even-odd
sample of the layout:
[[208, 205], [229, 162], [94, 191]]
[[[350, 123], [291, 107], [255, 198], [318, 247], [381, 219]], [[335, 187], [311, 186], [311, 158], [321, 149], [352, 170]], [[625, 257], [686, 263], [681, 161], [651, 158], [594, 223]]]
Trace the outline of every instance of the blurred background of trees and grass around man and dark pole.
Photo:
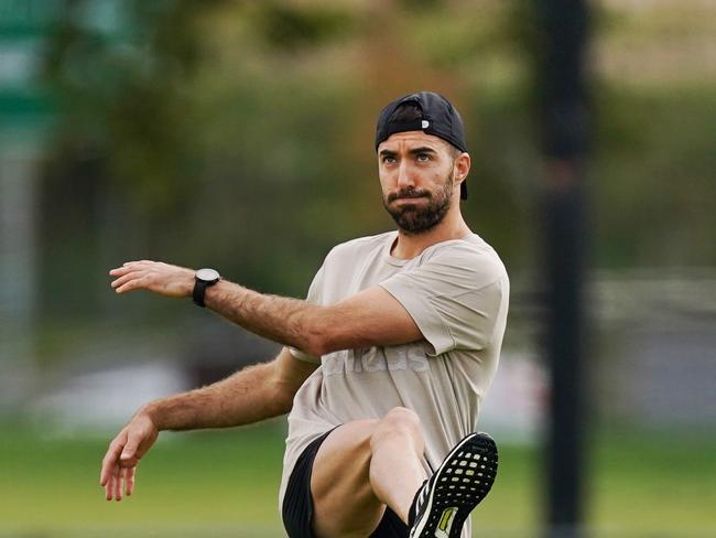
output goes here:
[[585, 268], [574, 536], [716, 536], [716, 4], [574, 3], [579, 88], [556, 123], [578, 143], [554, 146], [545, 74], [568, 47], [547, 33], [569, 2], [0, 0], [0, 536], [283, 536], [284, 419], [165, 433], [135, 496], [104, 499], [140, 405], [278, 349], [189, 301], [118, 298], [107, 273], [160, 259], [303, 297], [335, 244], [392, 228], [375, 119], [420, 89], [462, 112], [464, 214], [513, 288], [475, 536], [556, 525], [544, 266], [572, 258], [541, 223], [560, 163]]

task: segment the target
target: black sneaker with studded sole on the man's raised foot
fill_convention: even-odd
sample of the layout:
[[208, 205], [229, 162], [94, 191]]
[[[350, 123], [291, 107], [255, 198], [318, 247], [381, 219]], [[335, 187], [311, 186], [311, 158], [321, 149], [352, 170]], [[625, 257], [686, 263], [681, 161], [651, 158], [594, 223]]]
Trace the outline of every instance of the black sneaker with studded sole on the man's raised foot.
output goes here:
[[467, 516], [490, 492], [496, 474], [492, 438], [467, 435], [415, 495], [410, 538], [459, 538]]

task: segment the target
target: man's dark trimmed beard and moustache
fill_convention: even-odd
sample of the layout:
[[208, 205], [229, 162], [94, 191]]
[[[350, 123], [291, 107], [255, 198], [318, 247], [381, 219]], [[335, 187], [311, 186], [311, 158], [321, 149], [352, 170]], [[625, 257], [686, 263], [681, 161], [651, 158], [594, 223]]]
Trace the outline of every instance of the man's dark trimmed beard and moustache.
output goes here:
[[[435, 191], [402, 189], [397, 193], [383, 196], [383, 206], [393, 217], [398, 227], [408, 235], [425, 234], [437, 226], [451, 208], [453, 194], [453, 172], [446, 177], [445, 183]], [[426, 198], [427, 204], [402, 203], [391, 206], [398, 198]]]

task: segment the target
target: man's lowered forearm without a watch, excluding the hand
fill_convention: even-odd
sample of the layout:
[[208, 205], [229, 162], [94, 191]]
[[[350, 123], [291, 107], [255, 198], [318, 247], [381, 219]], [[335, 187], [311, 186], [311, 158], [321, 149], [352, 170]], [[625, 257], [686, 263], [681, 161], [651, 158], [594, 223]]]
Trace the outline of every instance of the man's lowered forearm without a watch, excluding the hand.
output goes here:
[[291, 395], [276, 392], [273, 364], [250, 366], [206, 387], [152, 401], [147, 413], [159, 430], [194, 430], [249, 424], [285, 413]]

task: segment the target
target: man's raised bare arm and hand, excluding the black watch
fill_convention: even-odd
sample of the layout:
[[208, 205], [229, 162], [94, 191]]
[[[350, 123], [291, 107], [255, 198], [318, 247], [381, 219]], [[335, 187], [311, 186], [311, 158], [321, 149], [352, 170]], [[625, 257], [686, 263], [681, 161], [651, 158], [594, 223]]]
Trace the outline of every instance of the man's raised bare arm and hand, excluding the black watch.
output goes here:
[[[193, 270], [155, 261], [131, 261], [110, 275], [117, 278], [112, 288], [118, 293], [144, 289], [188, 298], [194, 289]], [[258, 293], [221, 280], [207, 288], [204, 301], [252, 333], [316, 357], [337, 349], [399, 345], [423, 337], [403, 305], [380, 287], [322, 306]]]

